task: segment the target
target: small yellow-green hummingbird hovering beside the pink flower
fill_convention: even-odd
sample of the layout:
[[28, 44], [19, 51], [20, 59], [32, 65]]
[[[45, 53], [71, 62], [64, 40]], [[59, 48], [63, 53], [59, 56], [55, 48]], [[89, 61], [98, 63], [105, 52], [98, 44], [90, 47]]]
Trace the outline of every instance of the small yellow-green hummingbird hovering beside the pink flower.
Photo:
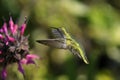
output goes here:
[[52, 27], [52, 33], [55, 36], [54, 39], [37, 40], [37, 42], [54, 48], [68, 49], [74, 55], [82, 58], [86, 64], [89, 64], [82, 46], [74, 39], [72, 39], [72, 37], [67, 33], [64, 27]]

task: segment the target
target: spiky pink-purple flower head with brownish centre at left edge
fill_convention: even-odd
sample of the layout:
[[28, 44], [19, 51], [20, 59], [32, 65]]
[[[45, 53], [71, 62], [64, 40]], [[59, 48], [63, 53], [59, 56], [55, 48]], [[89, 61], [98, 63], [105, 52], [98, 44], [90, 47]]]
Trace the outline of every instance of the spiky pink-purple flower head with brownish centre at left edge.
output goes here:
[[34, 59], [39, 59], [35, 54], [29, 54], [28, 36], [24, 36], [26, 18], [21, 27], [14, 24], [10, 17], [9, 25], [4, 22], [0, 29], [0, 66], [2, 80], [7, 76], [6, 67], [12, 63], [18, 64], [18, 70], [24, 76], [22, 64], [35, 64]]

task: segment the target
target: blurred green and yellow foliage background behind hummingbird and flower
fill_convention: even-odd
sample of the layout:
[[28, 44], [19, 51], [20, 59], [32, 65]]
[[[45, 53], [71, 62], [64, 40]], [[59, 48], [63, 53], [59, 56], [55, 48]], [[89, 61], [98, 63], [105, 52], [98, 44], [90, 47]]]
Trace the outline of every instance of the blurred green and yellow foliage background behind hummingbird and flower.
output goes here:
[[[0, 26], [9, 14], [19, 25], [27, 16], [31, 53], [41, 57], [37, 67], [24, 65], [26, 80], [120, 80], [120, 0], [0, 0]], [[90, 64], [36, 43], [52, 38], [50, 27], [65, 27], [82, 43]], [[24, 80], [16, 64], [7, 70], [7, 80]]]

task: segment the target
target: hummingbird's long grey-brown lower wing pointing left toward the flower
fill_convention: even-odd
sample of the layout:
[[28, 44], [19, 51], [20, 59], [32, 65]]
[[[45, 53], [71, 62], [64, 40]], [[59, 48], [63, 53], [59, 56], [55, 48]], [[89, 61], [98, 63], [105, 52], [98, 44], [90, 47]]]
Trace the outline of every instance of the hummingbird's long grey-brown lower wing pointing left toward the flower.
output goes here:
[[56, 38], [56, 39], [46, 39], [46, 40], [37, 40], [38, 43], [59, 48], [59, 49], [65, 49], [66, 48], [66, 41], [64, 38]]

